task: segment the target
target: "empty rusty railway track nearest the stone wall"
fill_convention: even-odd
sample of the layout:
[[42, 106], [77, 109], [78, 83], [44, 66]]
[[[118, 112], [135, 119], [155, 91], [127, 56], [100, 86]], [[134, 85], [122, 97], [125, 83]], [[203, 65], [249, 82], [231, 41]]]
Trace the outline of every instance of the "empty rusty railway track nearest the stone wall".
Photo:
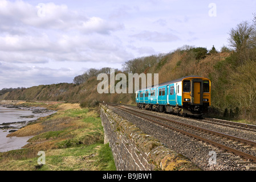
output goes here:
[[133, 114], [137, 117], [157, 123], [157, 125], [160, 125], [162, 127], [178, 131], [179, 133], [182, 133], [194, 139], [212, 144], [213, 146], [221, 148], [224, 151], [231, 152], [235, 155], [240, 156], [243, 159], [247, 159], [250, 162], [256, 162], [256, 151], [250, 151], [250, 148], [255, 148], [256, 146], [256, 142], [253, 140], [243, 139], [235, 137], [233, 135], [227, 135], [217, 131], [203, 129], [201, 127], [188, 125], [186, 123], [174, 121], [172, 119], [159, 117], [153, 114], [148, 114], [134, 109], [128, 109], [127, 107], [123, 107], [120, 105], [112, 106], [121, 109], [129, 114]]

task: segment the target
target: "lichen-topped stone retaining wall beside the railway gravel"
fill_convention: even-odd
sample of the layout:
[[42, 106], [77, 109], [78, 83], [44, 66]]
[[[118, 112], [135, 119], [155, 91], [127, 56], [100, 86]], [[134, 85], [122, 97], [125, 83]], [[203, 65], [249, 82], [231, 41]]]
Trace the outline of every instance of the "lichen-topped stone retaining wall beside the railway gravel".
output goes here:
[[108, 106], [100, 105], [104, 143], [109, 143], [117, 170], [200, 170], [190, 160], [143, 133]]

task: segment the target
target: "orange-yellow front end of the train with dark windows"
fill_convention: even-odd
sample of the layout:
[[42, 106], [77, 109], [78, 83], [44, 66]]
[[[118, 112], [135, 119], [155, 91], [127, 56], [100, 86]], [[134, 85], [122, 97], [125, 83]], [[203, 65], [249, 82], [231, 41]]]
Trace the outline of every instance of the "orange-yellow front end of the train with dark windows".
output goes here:
[[182, 80], [182, 114], [202, 115], [210, 106], [210, 80], [202, 77]]

